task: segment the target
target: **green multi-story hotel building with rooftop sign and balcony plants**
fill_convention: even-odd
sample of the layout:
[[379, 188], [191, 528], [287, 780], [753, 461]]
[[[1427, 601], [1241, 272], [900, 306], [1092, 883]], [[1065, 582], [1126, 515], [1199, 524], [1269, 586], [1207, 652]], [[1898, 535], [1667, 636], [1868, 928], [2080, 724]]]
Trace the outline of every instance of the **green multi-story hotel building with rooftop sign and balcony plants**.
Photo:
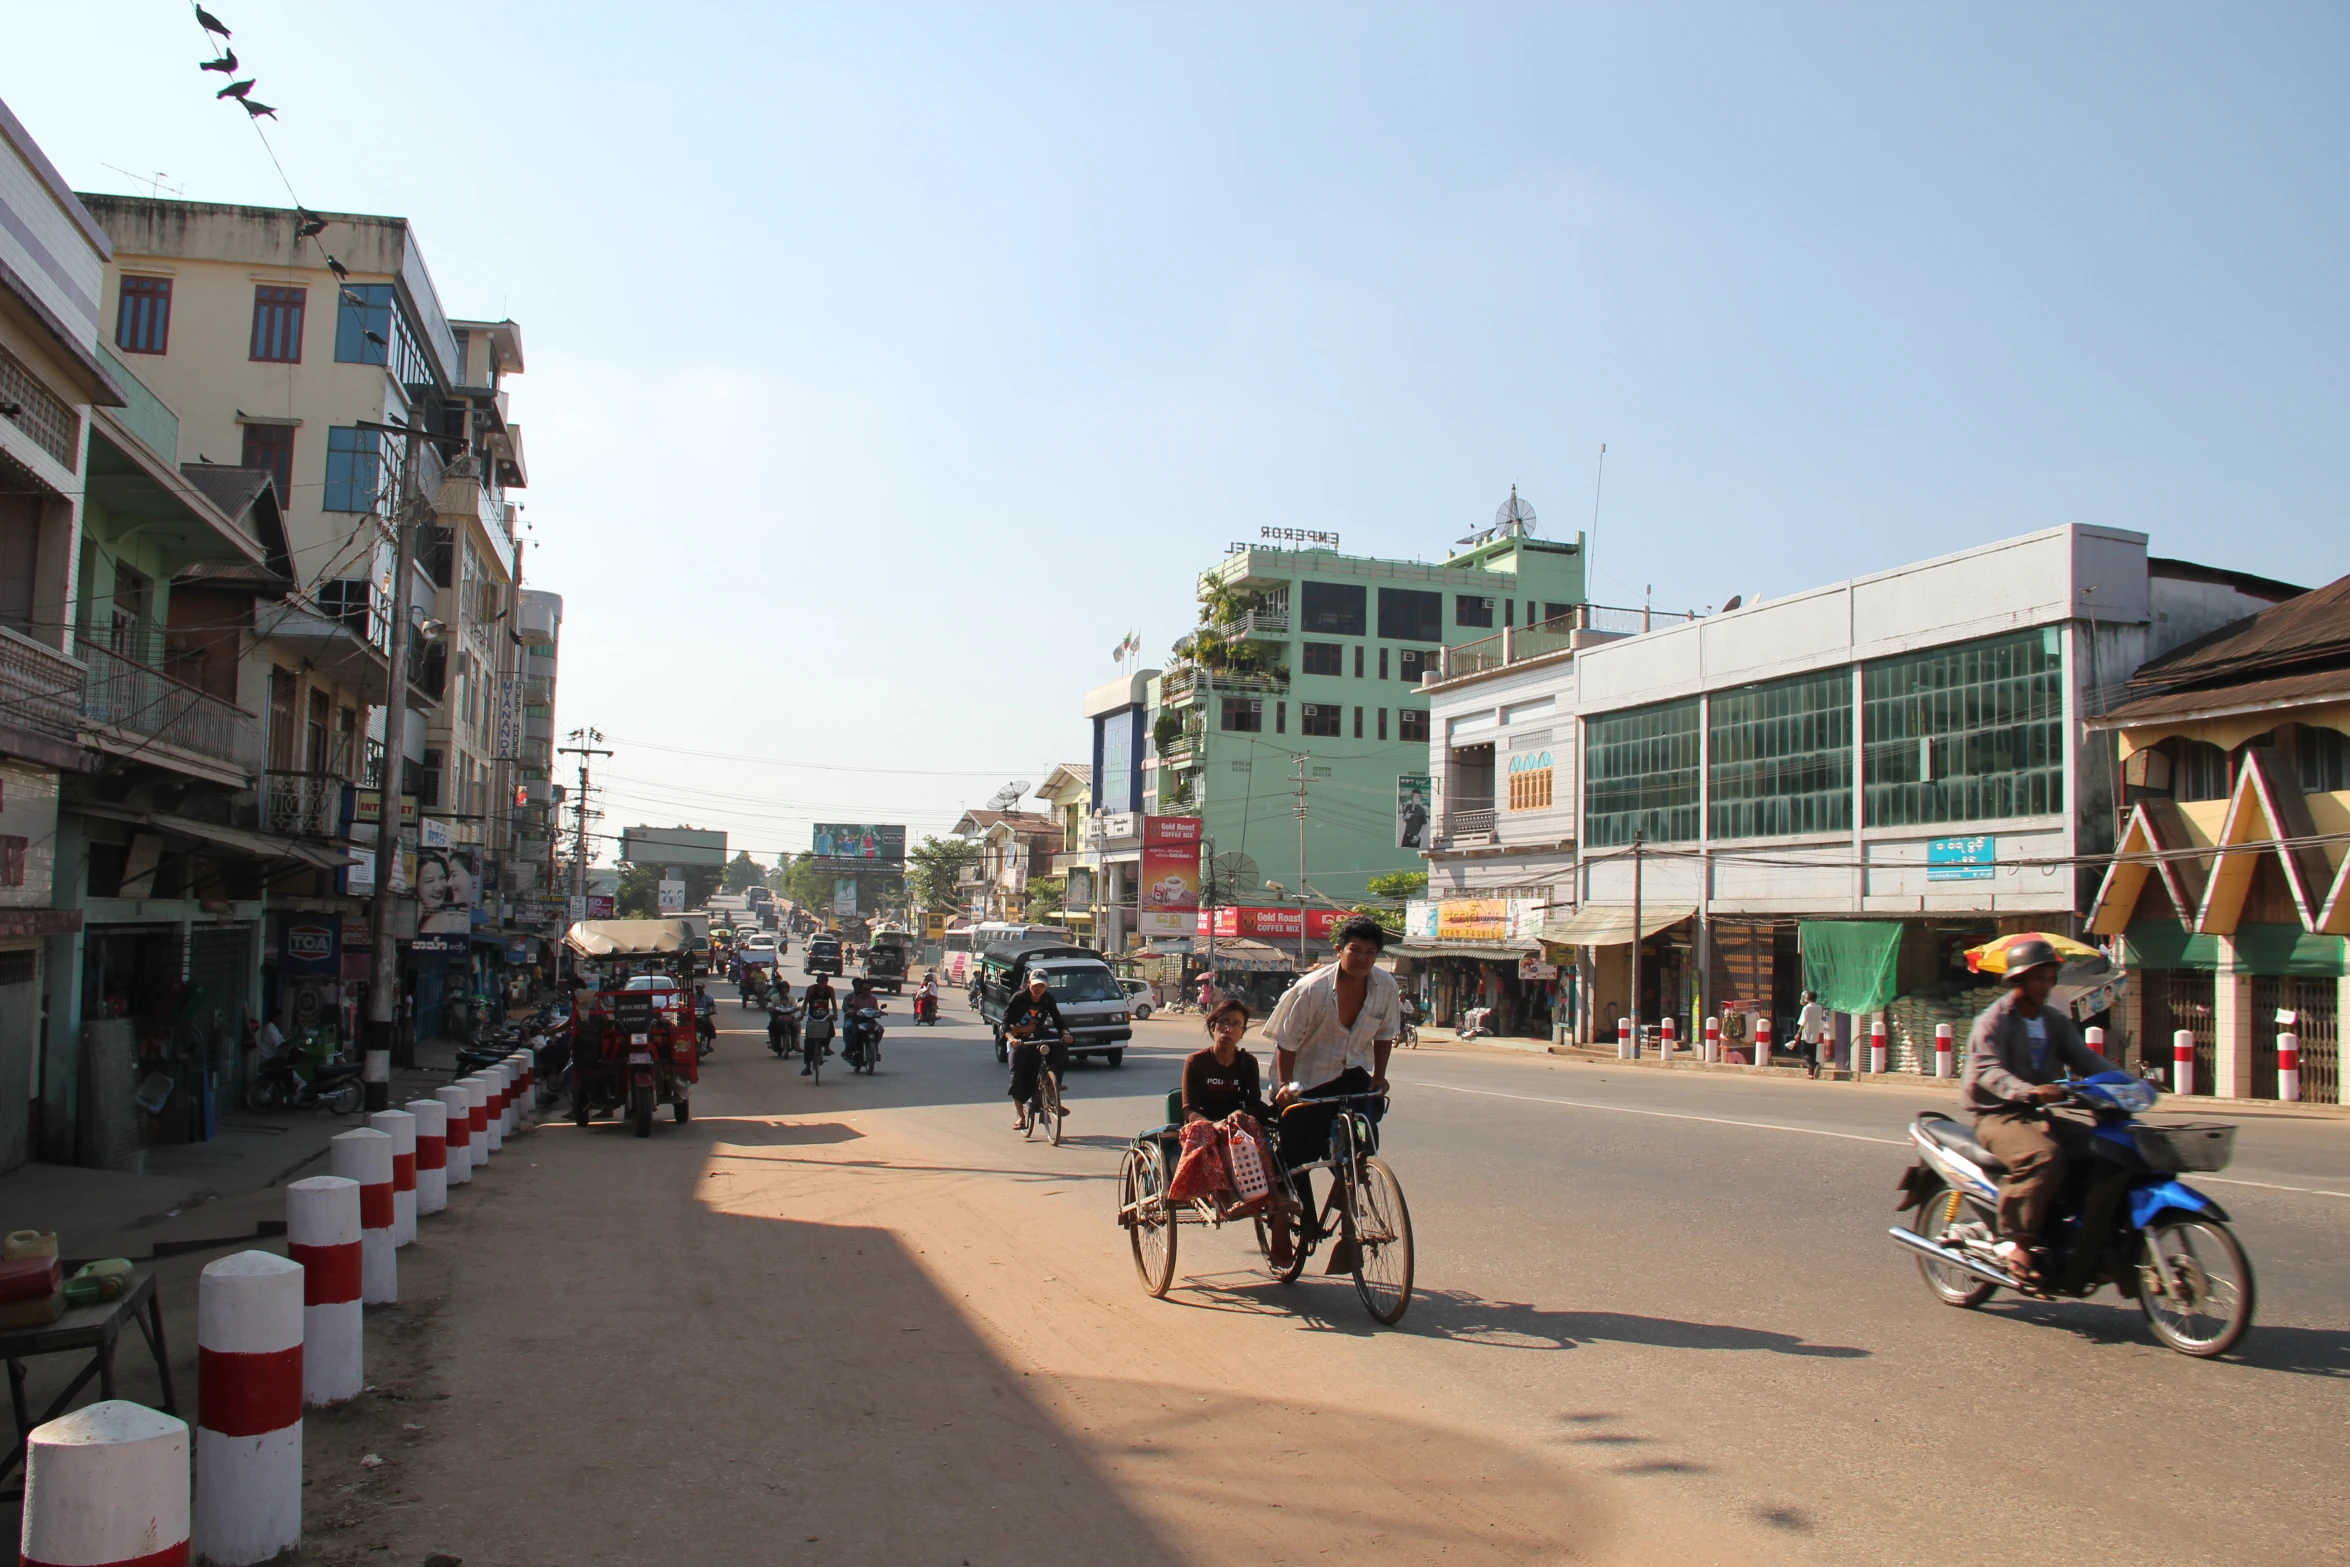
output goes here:
[[1234, 545], [1201, 573], [1189, 658], [1147, 686], [1144, 811], [1203, 818], [1206, 869], [1243, 909], [1278, 907], [1267, 881], [1328, 907], [1361, 900], [1382, 872], [1424, 869], [1434, 801], [1412, 811], [1398, 785], [1429, 773], [1422, 674], [1443, 648], [1570, 627], [1586, 601], [1582, 533], [1549, 540], [1502, 522], [1441, 564], [1300, 543]]

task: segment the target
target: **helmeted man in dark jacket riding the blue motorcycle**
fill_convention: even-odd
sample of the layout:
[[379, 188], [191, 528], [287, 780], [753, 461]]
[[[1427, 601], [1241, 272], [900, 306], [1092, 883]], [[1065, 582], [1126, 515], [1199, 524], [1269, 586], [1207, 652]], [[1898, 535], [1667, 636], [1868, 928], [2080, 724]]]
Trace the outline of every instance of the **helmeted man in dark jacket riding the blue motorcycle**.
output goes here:
[[1993, 1247], [2016, 1283], [2040, 1273], [2033, 1257], [2049, 1198], [2063, 1186], [2066, 1161], [2087, 1158], [2089, 1128], [2049, 1114], [2066, 1097], [2066, 1071], [2113, 1071], [2082, 1043], [2073, 1020], [2047, 1006], [2063, 959], [2047, 942], [2007, 951], [2007, 994], [1983, 1008], [1967, 1034], [1962, 1095], [1974, 1135], [2007, 1165], [2000, 1177], [2000, 1243]]

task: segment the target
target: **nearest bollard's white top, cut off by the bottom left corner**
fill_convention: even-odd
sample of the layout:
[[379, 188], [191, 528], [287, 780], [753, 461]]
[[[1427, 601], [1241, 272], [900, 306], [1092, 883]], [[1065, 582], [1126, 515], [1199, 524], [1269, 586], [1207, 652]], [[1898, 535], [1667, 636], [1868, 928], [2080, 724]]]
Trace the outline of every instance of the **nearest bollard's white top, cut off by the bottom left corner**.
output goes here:
[[186, 1567], [188, 1426], [122, 1398], [33, 1426], [26, 1567]]

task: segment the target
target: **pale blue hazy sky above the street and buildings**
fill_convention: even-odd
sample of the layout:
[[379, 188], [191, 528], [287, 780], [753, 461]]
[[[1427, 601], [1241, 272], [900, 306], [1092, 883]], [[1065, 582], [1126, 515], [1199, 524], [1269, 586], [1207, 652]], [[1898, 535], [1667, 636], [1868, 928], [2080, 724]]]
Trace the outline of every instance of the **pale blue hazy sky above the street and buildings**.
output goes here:
[[0, 99], [522, 324], [611, 832], [945, 832], [1229, 540], [1511, 484], [1600, 604], [2063, 522], [2350, 571], [2338, 5], [207, 5], [268, 148], [172, 0], [0, 0]]

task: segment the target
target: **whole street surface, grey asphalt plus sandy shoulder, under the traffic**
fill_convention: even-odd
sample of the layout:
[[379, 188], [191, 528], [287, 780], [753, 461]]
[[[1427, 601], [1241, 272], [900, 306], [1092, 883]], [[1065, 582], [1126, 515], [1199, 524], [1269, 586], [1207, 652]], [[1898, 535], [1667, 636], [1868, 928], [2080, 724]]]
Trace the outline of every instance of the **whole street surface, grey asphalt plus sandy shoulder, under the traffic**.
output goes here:
[[2110, 1292], [1974, 1313], [1925, 1292], [1882, 1231], [1932, 1092], [1403, 1052], [1384, 1151], [1419, 1294], [1377, 1330], [1347, 1280], [1269, 1283], [1238, 1229], [1184, 1229], [1166, 1302], [1135, 1285], [1112, 1175], [1196, 1020], [1074, 1069], [1053, 1149], [1013, 1135], [959, 994], [938, 1029], [893, 998], [881, 1074], [834, 1062], [811, 1088], [712, 991], [691, 1123], [637, 1142], [550, 1118], [496, 1203], [421, 1243], [446, 1297], [400, 1309], [430, 1327], [395, 1353], [421, 1358], [411, 1400], [449, 1398], [381, 1492], [400, 1501], [338, 1541], [1911, 1562], [1998, 1536], [2035, 1560], [2350, 1560], [2326, 1527], [2350, 1372], [2336, 1118], [2242, 1118], [2211, 1191], [2261, 1316], [2240, 1358], [2195, 1363]]

